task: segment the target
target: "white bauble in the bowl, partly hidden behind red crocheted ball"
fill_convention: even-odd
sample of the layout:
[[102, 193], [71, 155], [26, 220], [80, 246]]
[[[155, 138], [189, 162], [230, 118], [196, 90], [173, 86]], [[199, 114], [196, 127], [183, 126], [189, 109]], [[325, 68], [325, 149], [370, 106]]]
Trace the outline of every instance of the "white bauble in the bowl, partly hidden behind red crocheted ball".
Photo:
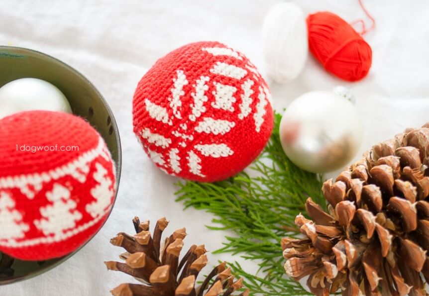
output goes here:
[[0, 88], [0, 118], [28, 110], [72, 113], [70, 103], [64, 94], [47, 81], [22, 78]]

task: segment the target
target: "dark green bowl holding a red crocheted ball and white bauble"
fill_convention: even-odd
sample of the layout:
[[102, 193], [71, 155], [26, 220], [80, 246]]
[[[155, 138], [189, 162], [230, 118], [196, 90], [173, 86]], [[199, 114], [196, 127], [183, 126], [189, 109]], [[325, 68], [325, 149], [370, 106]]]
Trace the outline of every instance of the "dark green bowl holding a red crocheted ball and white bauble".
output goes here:
[[[85, 118], [99, 131], [115, 162], [116, 186], [119, 186], [119, 132], [106, 100], [91, 82], [72, 67], [46, 54], [25, 48], [0, 46], [0, 87], [25, 77], [42, 79], [55, 85], [69, 100], [73, 113]], [[9, 267], [9, 260], [0, 252], [0, 285], [40, 275], [66, 261], [74, 253], [42, 262], [15, 259]]]

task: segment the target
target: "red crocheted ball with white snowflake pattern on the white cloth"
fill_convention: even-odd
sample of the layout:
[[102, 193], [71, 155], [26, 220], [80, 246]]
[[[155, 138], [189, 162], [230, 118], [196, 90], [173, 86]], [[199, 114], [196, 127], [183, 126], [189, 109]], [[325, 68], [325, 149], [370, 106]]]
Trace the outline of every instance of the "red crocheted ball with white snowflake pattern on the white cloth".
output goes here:
[[143, 76], [134, 132], [168, 174], [214, 182], [242, 171], [273, 128], [267, 84], [241, 53], [219, 42], [182, 46]]

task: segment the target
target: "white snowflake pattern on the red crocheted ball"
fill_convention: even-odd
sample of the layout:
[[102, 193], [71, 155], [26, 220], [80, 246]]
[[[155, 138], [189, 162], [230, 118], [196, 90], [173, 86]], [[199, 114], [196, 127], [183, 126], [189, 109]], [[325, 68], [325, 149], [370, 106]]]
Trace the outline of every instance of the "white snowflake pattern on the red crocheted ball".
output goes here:
[[[243, 57], [239, 53], [229, 48], [204, 47], [201, 50], [213, 56], [229, 56], [240, 61], [243, 60]], [[231, 116], [224, 119], [215, 119], [209, 115], [205, 115], [208, 107], [229, 112], [239, 110], [237, 120], [243, 120], [251, 115], [251, 105], [253, 103], [252, 95], [254, 94], [252, 87], [255, 81], [262, 80], [262, 77], [250, 62], [247, 62], [244, 67], [239, 67], [217, 61], [211, 66], [210, 73], [212, 75], [237, 80], [238, 85], [241, 87], [241, 92], [236, 88], [237, 84], [232, 86], [211, 82], [209, 76], [200, 76], [196, 81], [190, 82], [183, 70], [176, 70], [176, 76], [172, 78], [173, 87], [171, 89], [171, 95], [168, 98], [169, 104], [167, 106], [161, 106], [152, 102], [150, 99], [145, 99], [146, 111], [152, 119], [174, 127], [170, 135], [161, 135], [148, 128], [144, 128], [140, 131], [141, 137], [148, 143], [154, 144], [164, 150], [160, 153], [147, 149], [152, 161], [161, 166], [163, 170], [169, 169], [178, 174], [182, 170], [187, 169], [190, 173], [204, 178], [206, 176], [202, 173], [202, 160], [196, 152], [199, 152], [200, 155], [204, 157], [213, 158], [229, 157], [234, 154], [231, 147], [228, 147], [224, 143], [219, 143], [219, 141], [216, 141], [216, 143], [193, 144], [194, 135], [196, 133], [224, 135], [236, 126], [236, 121], [231, 120]], [[251, 78], [247, 75], [248, 73], [251, 73]], [[191, 112], [186, 116], [188, 116], [190, 121], [196, 122], [192, 130], [190, 130], [185, 123], [176, 124], [177, 119], [183, 118], [181, 112], [184, 107], [182, 105], [182, 97], [185, 95], [183, 88], [190, 83], [194, 88], [191, 92], [193, 102], [190, 103]], [[211, 84], [214, 89], [212, 92], [214, 101], [210, 105], [207, 105], [208, 97], [206, 94], [209, 90], [209, 84]], [[241, 93], [241, 102], [237, 105], [237, 94], [239, 93]], [[265, 107], [268, 104], [267, 100], [269, 100], [269, 96], [270, 94], [266, 87], [259, 87], [256, 108], [253, 113], [255, 131], [258, 133], [264, 122], [264, 115], [266, 113]], [[169, 116], [169, 114], [172, 115]], [[179, 149], [170, 147], [176, 140], [179, 140], [179, 145], [182, 147], [193, 145], [186, 156], [187, 167], [185, 168], [181, 167], [181, 159], [178, 155]]]

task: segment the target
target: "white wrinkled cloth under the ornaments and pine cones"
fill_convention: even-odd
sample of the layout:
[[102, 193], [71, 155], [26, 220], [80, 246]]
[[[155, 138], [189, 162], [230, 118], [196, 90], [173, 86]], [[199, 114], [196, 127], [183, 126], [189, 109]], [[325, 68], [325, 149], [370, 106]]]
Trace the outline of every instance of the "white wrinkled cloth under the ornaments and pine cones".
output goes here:
[[[174, 201], [173, 183], [150, 162], [131, 126], [131, 99], [141, 76], [155, 60], [188, 42], [218, 40], [245, 53], [264, 73], [260, 44], [265, 13], [276, 0], [148, 1], [148, 0], [0, 0], [0, 44], [28, 47], [59, 58], [82, 72], [107, 99], [119, 126], [123, 167], [119, 193], [104, 228], [78, 254], [31, 280], [0, 287], [5, 296], [109, 295], [119, 283], [132, 281], [107, 272], [103, 261], [117, 259], [120, 248], [109, 244], [119, 231], [133, 230], [131, 218], [156, 221], [166, 216], [168, 232], [185, 226], [186, 245], [221, 247], [226, 233], [209, 231], [211, 215], [182, 210]], [[348, 21], [364, 18], [357, 0], [300, 0], [306, 13], [329, 10]], [[429, 2], [365, 1], [377, 20], [366, 35], [373, 49], [367, 78], [349, 84], [328, 75], [310, 58], [289, 85], [269, 82], [277, 110], [311, 90], [344, 85], [357, 98], [365, 121], [364, 148], [408, 126], [429, 121]], [[7, 71], [7, 69], [0, 69]], [[334, 174], [332, 174], [334, 175]], [[230, 255], [209, 259], [237, 260]], [[248, 272], [257, 265], [246, 262]]]

